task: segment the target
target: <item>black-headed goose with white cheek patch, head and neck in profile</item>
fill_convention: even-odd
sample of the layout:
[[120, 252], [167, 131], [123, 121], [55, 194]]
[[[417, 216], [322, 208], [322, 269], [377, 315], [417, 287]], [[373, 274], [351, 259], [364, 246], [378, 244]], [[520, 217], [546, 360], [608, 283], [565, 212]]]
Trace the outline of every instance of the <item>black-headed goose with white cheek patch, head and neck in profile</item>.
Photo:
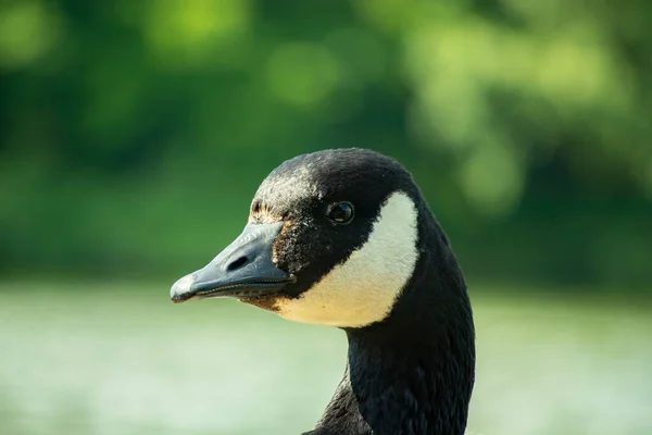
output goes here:
[[347, 366], [303, 435], [463, 435], [475, 328], [448, 236], [412, 175], [366, 149], [285, 161], [243, 232], [178, 279], [173, 302], [236, 298], [344, 331]]

